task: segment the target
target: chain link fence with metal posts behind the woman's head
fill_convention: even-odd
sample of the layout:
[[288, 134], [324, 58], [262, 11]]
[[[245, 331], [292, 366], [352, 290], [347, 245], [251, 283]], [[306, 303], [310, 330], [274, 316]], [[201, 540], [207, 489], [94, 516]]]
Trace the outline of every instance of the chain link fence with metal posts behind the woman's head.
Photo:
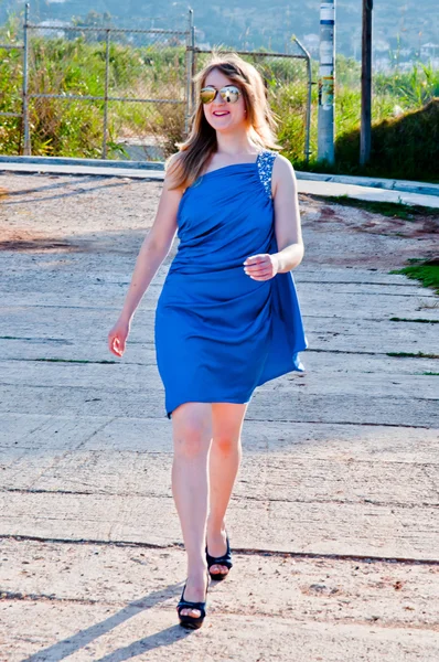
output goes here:
[[[175, 151], [195, 104], [193, 75], [212, 53], [196, 47], [192, 10], [184, 30], [32, 23], [28, 12], [29, 6], [23, 43], [0, 46], [0, 55], [1, 47], [14, 53], [3, 63], [14, 90], [0, 97], [3, 153], [4, 145], [8, 153], [129, 160], [163, 160]], [[311, 60], [295, 38], [286, 51], [235, 50], [265, 79], [281, 117], [280, 143], [293, 134], [300, 153], [289, 153], [308, 160]], [[9, 143], [7, 129], [14, 136]]]

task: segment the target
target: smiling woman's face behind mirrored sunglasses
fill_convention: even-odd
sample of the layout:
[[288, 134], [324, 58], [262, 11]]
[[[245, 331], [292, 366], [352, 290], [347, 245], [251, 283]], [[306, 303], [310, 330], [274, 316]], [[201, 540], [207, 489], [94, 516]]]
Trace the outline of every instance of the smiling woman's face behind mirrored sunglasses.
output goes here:
[[[239, 85], [227, 78], [221, 71], [213, 70], [207, 75], [203, 87], [212, 86], [220, 90], [226, 85], [235, 85], [240, 89]], [[213, 102], [203, 105], [203, 110], [208, 124], [217, 131], [236, 130], [236, 128], [244, 126], [246, 114], [242, 94], [235, 104], [225, 102], [220, 94], [216, 94]]]

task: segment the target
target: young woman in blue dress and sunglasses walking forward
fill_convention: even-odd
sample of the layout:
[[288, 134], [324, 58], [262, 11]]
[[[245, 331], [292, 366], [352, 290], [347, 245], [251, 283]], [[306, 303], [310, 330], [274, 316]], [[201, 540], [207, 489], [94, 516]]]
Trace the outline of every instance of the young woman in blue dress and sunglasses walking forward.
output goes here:
[[307, 348], [291, 275], [303, 257], [296, 177], [274, 151], [263, 78], [236, 54], [216, 54], [195, 82], [191, 134], [167, 164], [154, 223], [108, 334], [110, 351], [121, 356], [132, 316], [178, 231], [156, 311], [156, 351], [188, 554], [176, 609], [191, 628], [205, 617], [208, 576], [224, 579], [233, 565], [225, 513], [251, 394], [302, 371], [298, 352]]

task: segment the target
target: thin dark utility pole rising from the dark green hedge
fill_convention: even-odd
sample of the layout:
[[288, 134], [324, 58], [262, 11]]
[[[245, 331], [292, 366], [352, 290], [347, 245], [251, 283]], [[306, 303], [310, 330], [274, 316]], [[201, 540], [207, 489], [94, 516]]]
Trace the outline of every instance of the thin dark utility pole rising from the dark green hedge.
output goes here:
[[362, 38], [362, 127], [360, 137], [360, 164], [371, 158], [372, 145], [372, 10], [374, 0], [363, 0]]

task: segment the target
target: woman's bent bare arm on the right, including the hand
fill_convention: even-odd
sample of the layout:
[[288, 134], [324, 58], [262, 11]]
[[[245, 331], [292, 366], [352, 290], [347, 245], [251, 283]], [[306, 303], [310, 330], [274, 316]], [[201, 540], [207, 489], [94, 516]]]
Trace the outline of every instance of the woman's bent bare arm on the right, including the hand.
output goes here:
[[247, 257], [244, 270], [254, 280], [269, 280], [276, 274], [291, 271], [303, 258], [296, 174], [288, 159], [280, 154], [272, 166], [271, 191], [278, 253]]

